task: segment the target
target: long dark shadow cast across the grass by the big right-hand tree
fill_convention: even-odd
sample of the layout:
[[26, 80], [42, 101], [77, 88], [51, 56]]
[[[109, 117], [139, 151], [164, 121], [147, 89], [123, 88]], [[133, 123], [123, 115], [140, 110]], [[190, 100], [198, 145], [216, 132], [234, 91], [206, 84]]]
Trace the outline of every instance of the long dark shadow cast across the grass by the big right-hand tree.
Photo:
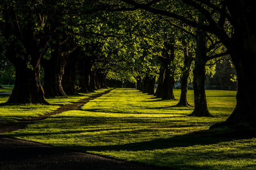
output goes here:
[[157, 150], [176, 147], [188, 147], [194, 145], [212, 145], [226, 141], [233, 141], [234, 139], [250, 139], [256, 136], [256, 132], [244, 131], [197, 131], [181, 136], [174, 136], [173, 138], [155, 139], [152, 141], [128, 143], [124, 145], [107, 145], [107, 146], [75, 146], [75, 149], [87, 151], [142, 151], [142, 150]]

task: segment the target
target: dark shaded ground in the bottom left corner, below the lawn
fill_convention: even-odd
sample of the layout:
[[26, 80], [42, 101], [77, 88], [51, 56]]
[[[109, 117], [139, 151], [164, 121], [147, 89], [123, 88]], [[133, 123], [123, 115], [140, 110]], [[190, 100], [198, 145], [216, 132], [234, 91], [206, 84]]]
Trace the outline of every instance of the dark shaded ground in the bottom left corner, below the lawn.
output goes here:
[[161, 169], [4, 136], [0, 153], [0, 169]]

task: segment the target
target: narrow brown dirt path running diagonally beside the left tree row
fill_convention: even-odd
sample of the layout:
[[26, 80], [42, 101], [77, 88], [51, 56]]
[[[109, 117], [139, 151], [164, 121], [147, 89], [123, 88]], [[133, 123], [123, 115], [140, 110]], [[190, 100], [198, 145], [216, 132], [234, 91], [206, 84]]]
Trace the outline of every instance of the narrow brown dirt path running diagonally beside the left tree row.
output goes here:
[[113, 90], [113, 89], [106, 90], [105, 92], [95, 94], [91, 97], [86, 97], [85, 99], [81, 99], [72, 104], [65, 104], [65, 105], [61, 106], [60, 108], [58, 108], [57, 110], [52, 111], [50, 113], [46, 113], [45, 115], [40, 115], [39, 117], [26, 118], [26, 119], [19, 120], [18, 122], [12, 122], [10, 124], [0, 125], [0, 134], [6, 133], [6, 132], [17, 131], [18, 129], [24, 129], [28, 124], [32, 124], [38, 120], [44, 120], [45, 118], [51, 117], [51, 115], [60, 114], [64, 111], [78, 110], [81, 106], [88, 103], [88, 101], [96, 99], [97, 97], [100, 97], [104, 94], [108, 94], [111, 90]]

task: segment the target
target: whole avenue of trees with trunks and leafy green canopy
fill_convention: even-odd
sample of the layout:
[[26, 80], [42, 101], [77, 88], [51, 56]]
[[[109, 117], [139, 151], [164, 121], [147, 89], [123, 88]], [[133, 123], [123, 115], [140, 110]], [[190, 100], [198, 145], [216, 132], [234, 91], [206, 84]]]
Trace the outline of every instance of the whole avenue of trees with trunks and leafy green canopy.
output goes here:
[[212, 117], [205, 75], [230, 60], [237, 72], [237, 106], [212, 127], [255, 127], [255, 7], [248, 0], [3, 0], [0, 73], [15, 68], [8, 103], [48, 104], [45, 97], [122, 81], [175, 100], [173, 87], [180, 80], [177, 106], [192, 105], [186, 93], [193, 82], [189, 116]]

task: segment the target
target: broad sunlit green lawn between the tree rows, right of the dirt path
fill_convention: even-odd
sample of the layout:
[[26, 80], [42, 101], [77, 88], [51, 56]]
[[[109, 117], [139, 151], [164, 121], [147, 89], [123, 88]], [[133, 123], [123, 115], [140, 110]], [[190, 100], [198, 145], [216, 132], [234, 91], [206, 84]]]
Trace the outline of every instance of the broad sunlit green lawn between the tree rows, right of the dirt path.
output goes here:
[[[177, 99], [179, 94], [175, 90]], [[188, 101], [193, 104], [192, 90]], [[225, 129], [206, 131], [232, 113], [236, 92], [207, 90], [207, 101], [213, 118], [186, 117], [193, 108], [173, 108], [178, 101], [115, 89], [81, 110], [54, 115], [8, 135], [175, 169], [256, 169], [255, 138], [223, 135]]]

